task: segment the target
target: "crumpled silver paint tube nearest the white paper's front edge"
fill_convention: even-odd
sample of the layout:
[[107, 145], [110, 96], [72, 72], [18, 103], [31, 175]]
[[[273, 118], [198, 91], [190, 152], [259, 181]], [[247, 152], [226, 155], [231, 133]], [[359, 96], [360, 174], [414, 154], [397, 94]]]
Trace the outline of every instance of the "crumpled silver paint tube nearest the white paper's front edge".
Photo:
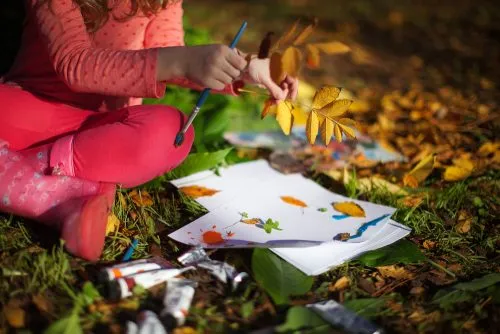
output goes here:
[[200, 246], [187, 251], [177, 260], [183, 265], [195, 265], [210, 271], [212, 275], [217, 277], [221, 282], [231, 284], [233, 291], [235, 291], [244, 280], [249, 278], [247, 273], [239, 273], [236, 268], [226, 262], [210, 259], [205, 250]]

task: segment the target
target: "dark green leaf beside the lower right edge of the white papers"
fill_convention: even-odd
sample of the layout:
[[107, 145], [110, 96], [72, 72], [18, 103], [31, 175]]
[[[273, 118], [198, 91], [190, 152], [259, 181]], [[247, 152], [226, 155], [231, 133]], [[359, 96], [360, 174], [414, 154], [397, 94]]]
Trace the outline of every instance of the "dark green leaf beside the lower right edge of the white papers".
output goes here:
[[395, 263], [419, 263], [426, 259], [417, 245], [411, 241], [401, 240], [387, 247], [363, 254], [356, 261], [368, 267], [378, 267]]

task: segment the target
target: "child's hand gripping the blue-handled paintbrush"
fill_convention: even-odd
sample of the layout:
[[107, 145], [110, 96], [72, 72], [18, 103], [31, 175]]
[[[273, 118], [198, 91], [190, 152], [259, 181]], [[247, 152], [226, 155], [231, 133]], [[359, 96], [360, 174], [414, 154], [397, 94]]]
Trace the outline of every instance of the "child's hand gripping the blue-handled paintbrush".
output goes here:
[[241, 76], [247, 62], [228, 46], [213, 44], [185, 48], [184, 76], [207, 88], [222, 90]]

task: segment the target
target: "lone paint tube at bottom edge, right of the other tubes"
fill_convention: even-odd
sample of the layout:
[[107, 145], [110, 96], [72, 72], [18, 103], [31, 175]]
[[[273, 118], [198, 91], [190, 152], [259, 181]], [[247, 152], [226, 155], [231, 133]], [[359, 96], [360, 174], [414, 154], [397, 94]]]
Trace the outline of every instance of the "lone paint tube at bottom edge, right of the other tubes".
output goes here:
[[334, 300], [309, 304], [306, 307], [316, 312], [330, 324], [353, 334], [382, 334], [384, 330], [374, 323], [348, 310]]

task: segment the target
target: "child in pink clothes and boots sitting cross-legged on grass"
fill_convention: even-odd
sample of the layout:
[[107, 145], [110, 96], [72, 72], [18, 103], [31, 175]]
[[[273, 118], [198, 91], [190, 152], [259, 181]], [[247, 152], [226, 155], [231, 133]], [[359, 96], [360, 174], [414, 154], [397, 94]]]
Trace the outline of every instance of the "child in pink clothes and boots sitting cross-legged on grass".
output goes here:
[[[224, 45], [186, 47], [180, 0], [26, 0], [22, 47], [0, 78], [0, 211], [61, 231], [68, 251], [97, 260], [115, 185], [134, 187], [179, 165], [193, 129], [170, 106], [142, 106], [166, 84], [237, 95], [245, 83], [276, 100], [298, 82], [269, 60]], [[246, 59], [251, 59], [247, 62]]]

